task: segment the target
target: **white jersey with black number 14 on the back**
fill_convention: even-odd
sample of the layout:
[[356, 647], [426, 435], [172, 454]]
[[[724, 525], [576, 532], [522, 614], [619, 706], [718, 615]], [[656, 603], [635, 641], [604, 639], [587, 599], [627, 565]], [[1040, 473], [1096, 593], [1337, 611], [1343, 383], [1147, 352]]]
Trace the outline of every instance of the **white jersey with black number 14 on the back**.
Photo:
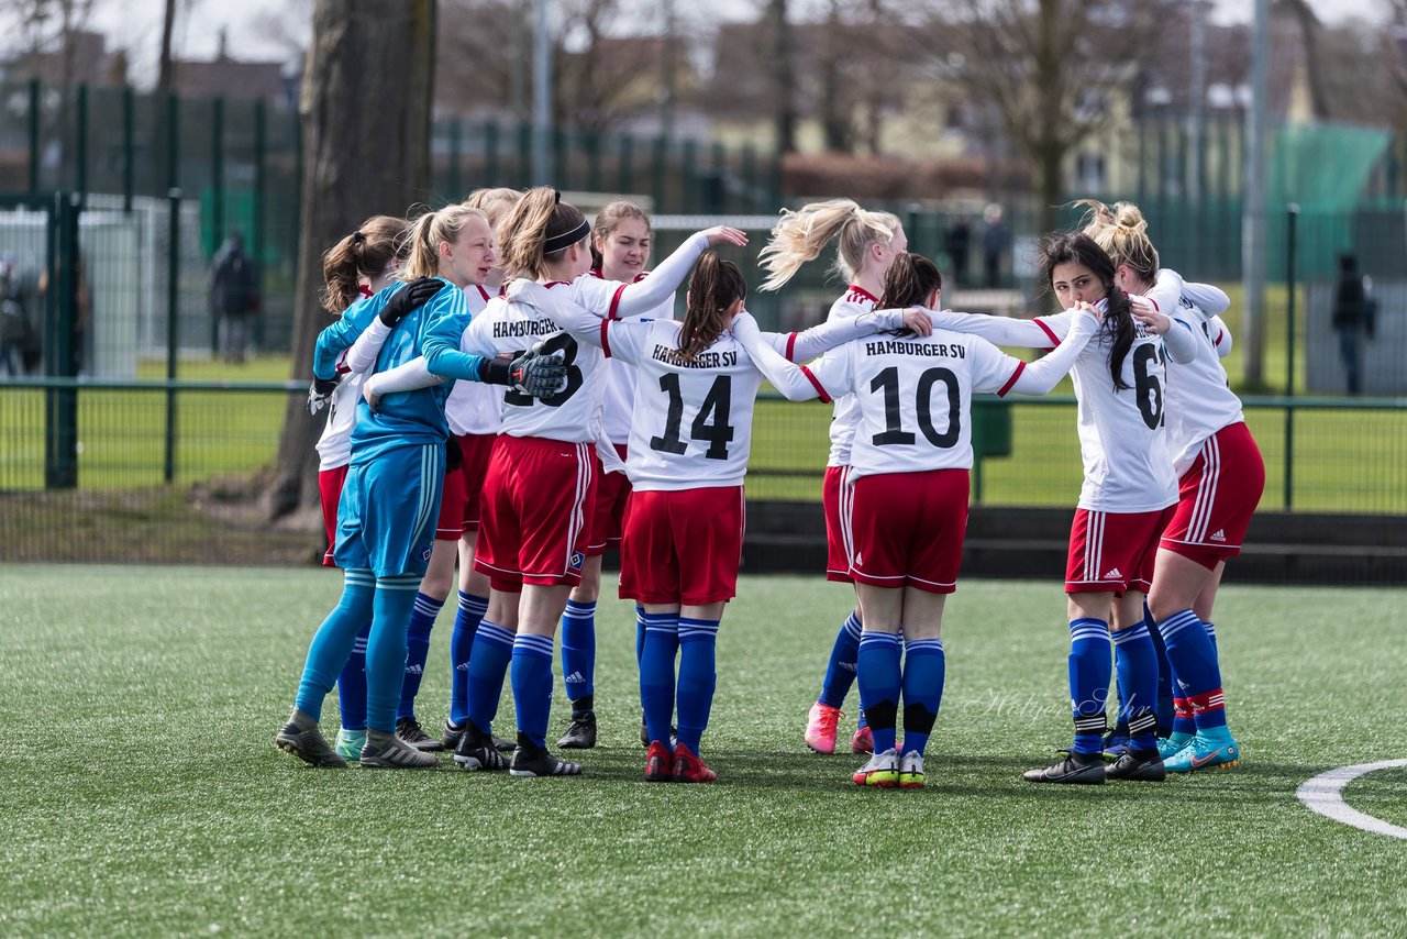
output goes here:
[[[725, 331], [692, 362], [673, 320], [609, 320], [606, 355], [639, 372], [626, 476], [636, 490], [741, 486], [763, 376]], [[788, 336], [764, 334], [778, 349]]]

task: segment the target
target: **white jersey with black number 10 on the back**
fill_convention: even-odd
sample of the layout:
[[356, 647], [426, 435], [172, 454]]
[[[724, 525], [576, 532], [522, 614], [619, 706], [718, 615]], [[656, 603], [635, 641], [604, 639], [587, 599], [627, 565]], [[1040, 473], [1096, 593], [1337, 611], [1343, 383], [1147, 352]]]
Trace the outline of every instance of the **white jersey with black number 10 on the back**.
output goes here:
[[[878, 473], [972, 467], [972, 393], [1005, 394], [1024, 363], [981, 336], [875, 335], [837, 346], [806, 366], [839, 403], [854, 403], [854, 483]], [[900, 494], [902, 497], [902, 494]]]

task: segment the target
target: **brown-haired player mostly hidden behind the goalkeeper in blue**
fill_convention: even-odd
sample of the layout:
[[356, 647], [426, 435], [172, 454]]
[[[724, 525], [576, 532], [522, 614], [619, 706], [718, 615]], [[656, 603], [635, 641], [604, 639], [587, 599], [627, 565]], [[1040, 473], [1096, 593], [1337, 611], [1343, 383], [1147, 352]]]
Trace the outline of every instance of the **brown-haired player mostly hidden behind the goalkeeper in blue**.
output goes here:
[[[355, 232], [339, 241], [322, 256], [322, 305], [342, 315], [362, 297], [370, 297], [391, 284], [405, 262], [409, 225], [394, 215], [373, 215]], [[318, 438], [318, 494], [322, 501], [322, 525], [328, 534], [324, 567], [336, 567], [332, 549], [338, 536], [338, 500], [352, 462], [352, 425], [362, 397], [363, 372], [353, 372], [346, 355], [338, 360], [338, 377], [314, 379], [308, 391], [308, 410], [317, 415], [328, 408], [328, 422]], [[466, 383], [474, 384], [474, 383]], [[333, 749], [346, 760], [359, 760], [366, 745], [366, 638], [371, 622], [357, 632], [352, 656], [338, 676], [338, 710], [342, 726]]]

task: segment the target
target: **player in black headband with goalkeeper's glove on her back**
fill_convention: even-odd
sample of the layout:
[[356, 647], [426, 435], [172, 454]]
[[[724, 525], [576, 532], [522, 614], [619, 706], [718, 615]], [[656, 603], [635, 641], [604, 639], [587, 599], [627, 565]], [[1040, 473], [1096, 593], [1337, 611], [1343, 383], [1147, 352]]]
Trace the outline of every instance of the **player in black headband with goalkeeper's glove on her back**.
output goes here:
[[[711, 242], [746, 244], [743, 232], [711, 228], [696, 232], [654, 275], [635, 284], [591, 277], [590, 225], [556, 190], [529, 190], [499, 227], [502, 267], [563, 290], [577, 305], [605, 317], [657, 307], [684, 279]], [[522, 304], [492, 300], [464, 331], [463, 348], [480, 355], [514, 352], [543, 344], [564, 356], [564, 386], [540, 401], [504, 396], [502, 427], [490, 458], [480, 505], [474, 567], [490, 577], [488, 611], [476, 634], [469, 667], [469, 717], [454, 749], [467, 769], [502, 769], [492, 748], [492, 718], [505, 672], [512, 666], [518, 746], [515, 776], [574, 776], [578, 763], [559, 760], [546, 748], [552, 711], [553, 636], [567, 595], [581, 580], [595, 498], [597, 459], [619, 469], [601, 431], [604, 356], [578, 346], [545, 314]], [[415, 387], [415, 363], [374, 376], [366, 394]]]

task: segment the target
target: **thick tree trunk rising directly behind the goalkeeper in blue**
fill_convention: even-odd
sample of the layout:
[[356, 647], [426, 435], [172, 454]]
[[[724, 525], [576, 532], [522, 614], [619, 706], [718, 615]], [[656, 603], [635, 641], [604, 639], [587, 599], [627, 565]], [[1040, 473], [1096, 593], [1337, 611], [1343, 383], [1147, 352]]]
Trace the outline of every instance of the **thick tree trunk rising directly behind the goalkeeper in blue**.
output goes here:
[[[331, 322], [318, 304], [322, 253], [370, 215], [398, 214], [429, 194], [435, 0], [317, 0], [303, 79], [303, 218], [293, 320], [293, 377], [312, 376], [312, 348]], [[322, 418], [288, 398], [270, 518], [318, 504]]]

